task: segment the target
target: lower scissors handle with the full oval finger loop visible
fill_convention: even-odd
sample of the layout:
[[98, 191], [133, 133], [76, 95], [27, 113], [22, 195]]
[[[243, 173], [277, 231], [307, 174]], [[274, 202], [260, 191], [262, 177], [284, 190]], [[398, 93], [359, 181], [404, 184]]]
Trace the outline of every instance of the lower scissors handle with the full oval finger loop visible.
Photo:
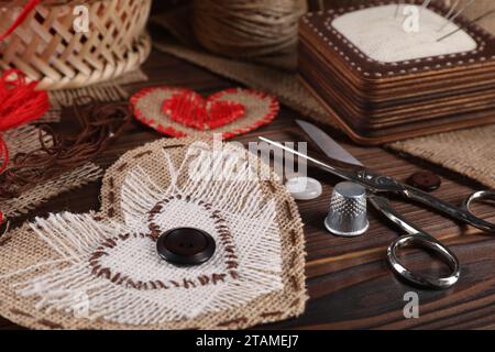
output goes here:
[[[392, 208], [387, 199], [378, 196], [370, 196], [370, 201], [389, 220], [408, 232], [408, 234], [399, 237], [397, 240], [392, 242], [387, 250], [388, 263], [397, 275], [402, 276], [409, 283], [435, 289], [449, 288], [459, 280], [459, 277], [461, 276], [461, 265], [452, 251], [440, 243], [436, 238], [419, 229], [413, 222], [404, 219], [403, 216]], [[451, 273], [444, 277], [432, 277], [408, 270], [404, 266], [404, 264], [402, 264], [397, 256], [397, 250], [407, 246], [415, 246], [425, 251], [433, 251], [442, 262], [449, 265]]]

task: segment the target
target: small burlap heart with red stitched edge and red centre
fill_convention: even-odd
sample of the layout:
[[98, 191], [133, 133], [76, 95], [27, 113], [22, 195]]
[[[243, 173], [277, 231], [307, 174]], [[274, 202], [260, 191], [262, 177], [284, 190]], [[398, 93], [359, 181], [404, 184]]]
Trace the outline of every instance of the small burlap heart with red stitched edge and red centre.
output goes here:
[[131, 102], [138, 120], [176, 138], [220, 133], [230, 139], [271, 122], [279, 111], [274, 96], [241, 88], [222, 90], [207, 99], [184, 88], [145, 88]]

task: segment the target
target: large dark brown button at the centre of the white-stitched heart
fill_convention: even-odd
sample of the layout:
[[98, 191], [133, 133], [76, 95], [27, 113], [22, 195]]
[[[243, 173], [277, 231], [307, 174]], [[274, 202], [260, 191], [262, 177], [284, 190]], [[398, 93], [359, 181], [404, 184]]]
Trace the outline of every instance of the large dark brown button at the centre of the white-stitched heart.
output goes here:
[[169, 230], [156, 242], [160, 256], [176, 265], [200, 265], [213, 255], [216, 246], [209, 233], [193, 228]]

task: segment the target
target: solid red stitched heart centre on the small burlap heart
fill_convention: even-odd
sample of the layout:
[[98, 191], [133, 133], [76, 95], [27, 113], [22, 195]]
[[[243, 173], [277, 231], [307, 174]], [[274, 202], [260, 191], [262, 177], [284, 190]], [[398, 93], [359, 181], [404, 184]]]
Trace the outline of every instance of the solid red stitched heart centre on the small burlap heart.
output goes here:
[[201, 131], [218, 129], [245, 114], [242, 103], [217, 99], [217, 95], [205, 99], [193, 90], [183, 89], [164, 101], [162, 112], [175, 122]]

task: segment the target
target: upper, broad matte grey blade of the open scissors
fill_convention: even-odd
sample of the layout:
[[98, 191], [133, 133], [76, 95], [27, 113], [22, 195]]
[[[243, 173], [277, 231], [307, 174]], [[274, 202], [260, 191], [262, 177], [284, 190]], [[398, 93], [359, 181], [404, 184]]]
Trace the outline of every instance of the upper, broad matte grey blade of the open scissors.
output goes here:
[[331, 139], [321, 129], [312, 123], [296, 120], [296, 123], [306, 132], [306, 134], [320, 147], [320, 150], [330, 158], [348, 164], [363, 166], [351, 153], [345, 151], [339, 143]]

